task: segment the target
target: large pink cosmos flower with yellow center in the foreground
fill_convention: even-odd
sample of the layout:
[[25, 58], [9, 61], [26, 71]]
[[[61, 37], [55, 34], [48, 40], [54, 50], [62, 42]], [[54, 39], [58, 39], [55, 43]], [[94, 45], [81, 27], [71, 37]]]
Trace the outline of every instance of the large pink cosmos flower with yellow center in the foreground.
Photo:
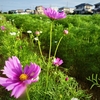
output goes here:
[[41, 68], [31, 63], [30, 66], [26, 65], [22, 70], [19, 59], [12, 56], [12, 58], [5, 61], [2, 71], [7, 78], [0, 77], [0, 85], [8, 91], [12, 90], [11, 96], [18, 98], [24, 93], [28, 84], [38, 81]]

